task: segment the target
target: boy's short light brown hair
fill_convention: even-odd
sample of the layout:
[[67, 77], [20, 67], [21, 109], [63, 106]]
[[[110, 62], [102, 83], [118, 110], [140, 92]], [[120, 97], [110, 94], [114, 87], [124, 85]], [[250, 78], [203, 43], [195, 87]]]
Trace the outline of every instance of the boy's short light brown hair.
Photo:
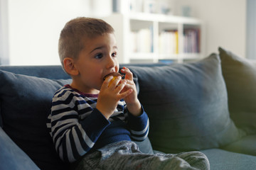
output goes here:
[[[95, 38], [105, 33], [114, 33], [114, 28], [97, 18], [79, 17], [68, 21], [60, 33], [58, 53], [63, 66], [65, 57], [77, 58], [85, 46], [86, 38]], [[63, 67], [64, 69], [64, 67]]]

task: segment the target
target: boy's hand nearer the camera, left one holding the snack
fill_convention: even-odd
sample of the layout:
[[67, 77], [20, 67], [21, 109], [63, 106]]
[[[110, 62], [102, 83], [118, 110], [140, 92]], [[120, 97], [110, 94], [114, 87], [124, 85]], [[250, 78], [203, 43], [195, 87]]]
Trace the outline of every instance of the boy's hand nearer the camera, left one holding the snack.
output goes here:
[[[118, 101], [132, 93], [132, 90], [129, 90], [120, 94], [125, 84], [127, 84], [127, 81], [121, 79], [120, 76], [114, 79], [114, 81], [112, 81], [112, 79], [113, 77], [110, 76], [103, 81], [100, 94], [97, 98], [96, 108], [107, 119], [114, 113], [114, 109], [117, 108]], [[111, 84], [110, 81], [112, 81]]]

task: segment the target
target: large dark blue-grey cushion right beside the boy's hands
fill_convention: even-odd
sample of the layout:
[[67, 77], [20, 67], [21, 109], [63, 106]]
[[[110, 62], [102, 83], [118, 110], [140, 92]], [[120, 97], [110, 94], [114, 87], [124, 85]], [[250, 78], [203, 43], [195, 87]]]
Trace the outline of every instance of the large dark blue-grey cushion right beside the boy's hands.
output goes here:
[[166, 153], [208, 149], [242, 135], [229, 116], [218, 55], [193, 63], [129, 69], [139, 81], [153, 149]]

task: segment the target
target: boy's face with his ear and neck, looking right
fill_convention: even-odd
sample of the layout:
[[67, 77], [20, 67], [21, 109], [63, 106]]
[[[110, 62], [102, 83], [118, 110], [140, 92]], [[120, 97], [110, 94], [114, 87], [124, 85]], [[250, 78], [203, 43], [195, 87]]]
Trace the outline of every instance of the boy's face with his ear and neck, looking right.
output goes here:
[[79, 74], [71, 85], [84, 93], [98, 94], [103, 77], [119, 70], [114, 34], [107, 33], [87, 39], [85, 47], [75, 60], [75, 67]]

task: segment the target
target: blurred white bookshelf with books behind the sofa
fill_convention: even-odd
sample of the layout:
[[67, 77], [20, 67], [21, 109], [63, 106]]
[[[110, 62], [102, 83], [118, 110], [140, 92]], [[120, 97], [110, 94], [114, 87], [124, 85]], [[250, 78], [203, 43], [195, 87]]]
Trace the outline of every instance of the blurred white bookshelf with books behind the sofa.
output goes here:
[[203, 22], [158, 13], [112, 13], [103, 18], [117, 38], [120, 63], [183, 62], [203, 57]]

